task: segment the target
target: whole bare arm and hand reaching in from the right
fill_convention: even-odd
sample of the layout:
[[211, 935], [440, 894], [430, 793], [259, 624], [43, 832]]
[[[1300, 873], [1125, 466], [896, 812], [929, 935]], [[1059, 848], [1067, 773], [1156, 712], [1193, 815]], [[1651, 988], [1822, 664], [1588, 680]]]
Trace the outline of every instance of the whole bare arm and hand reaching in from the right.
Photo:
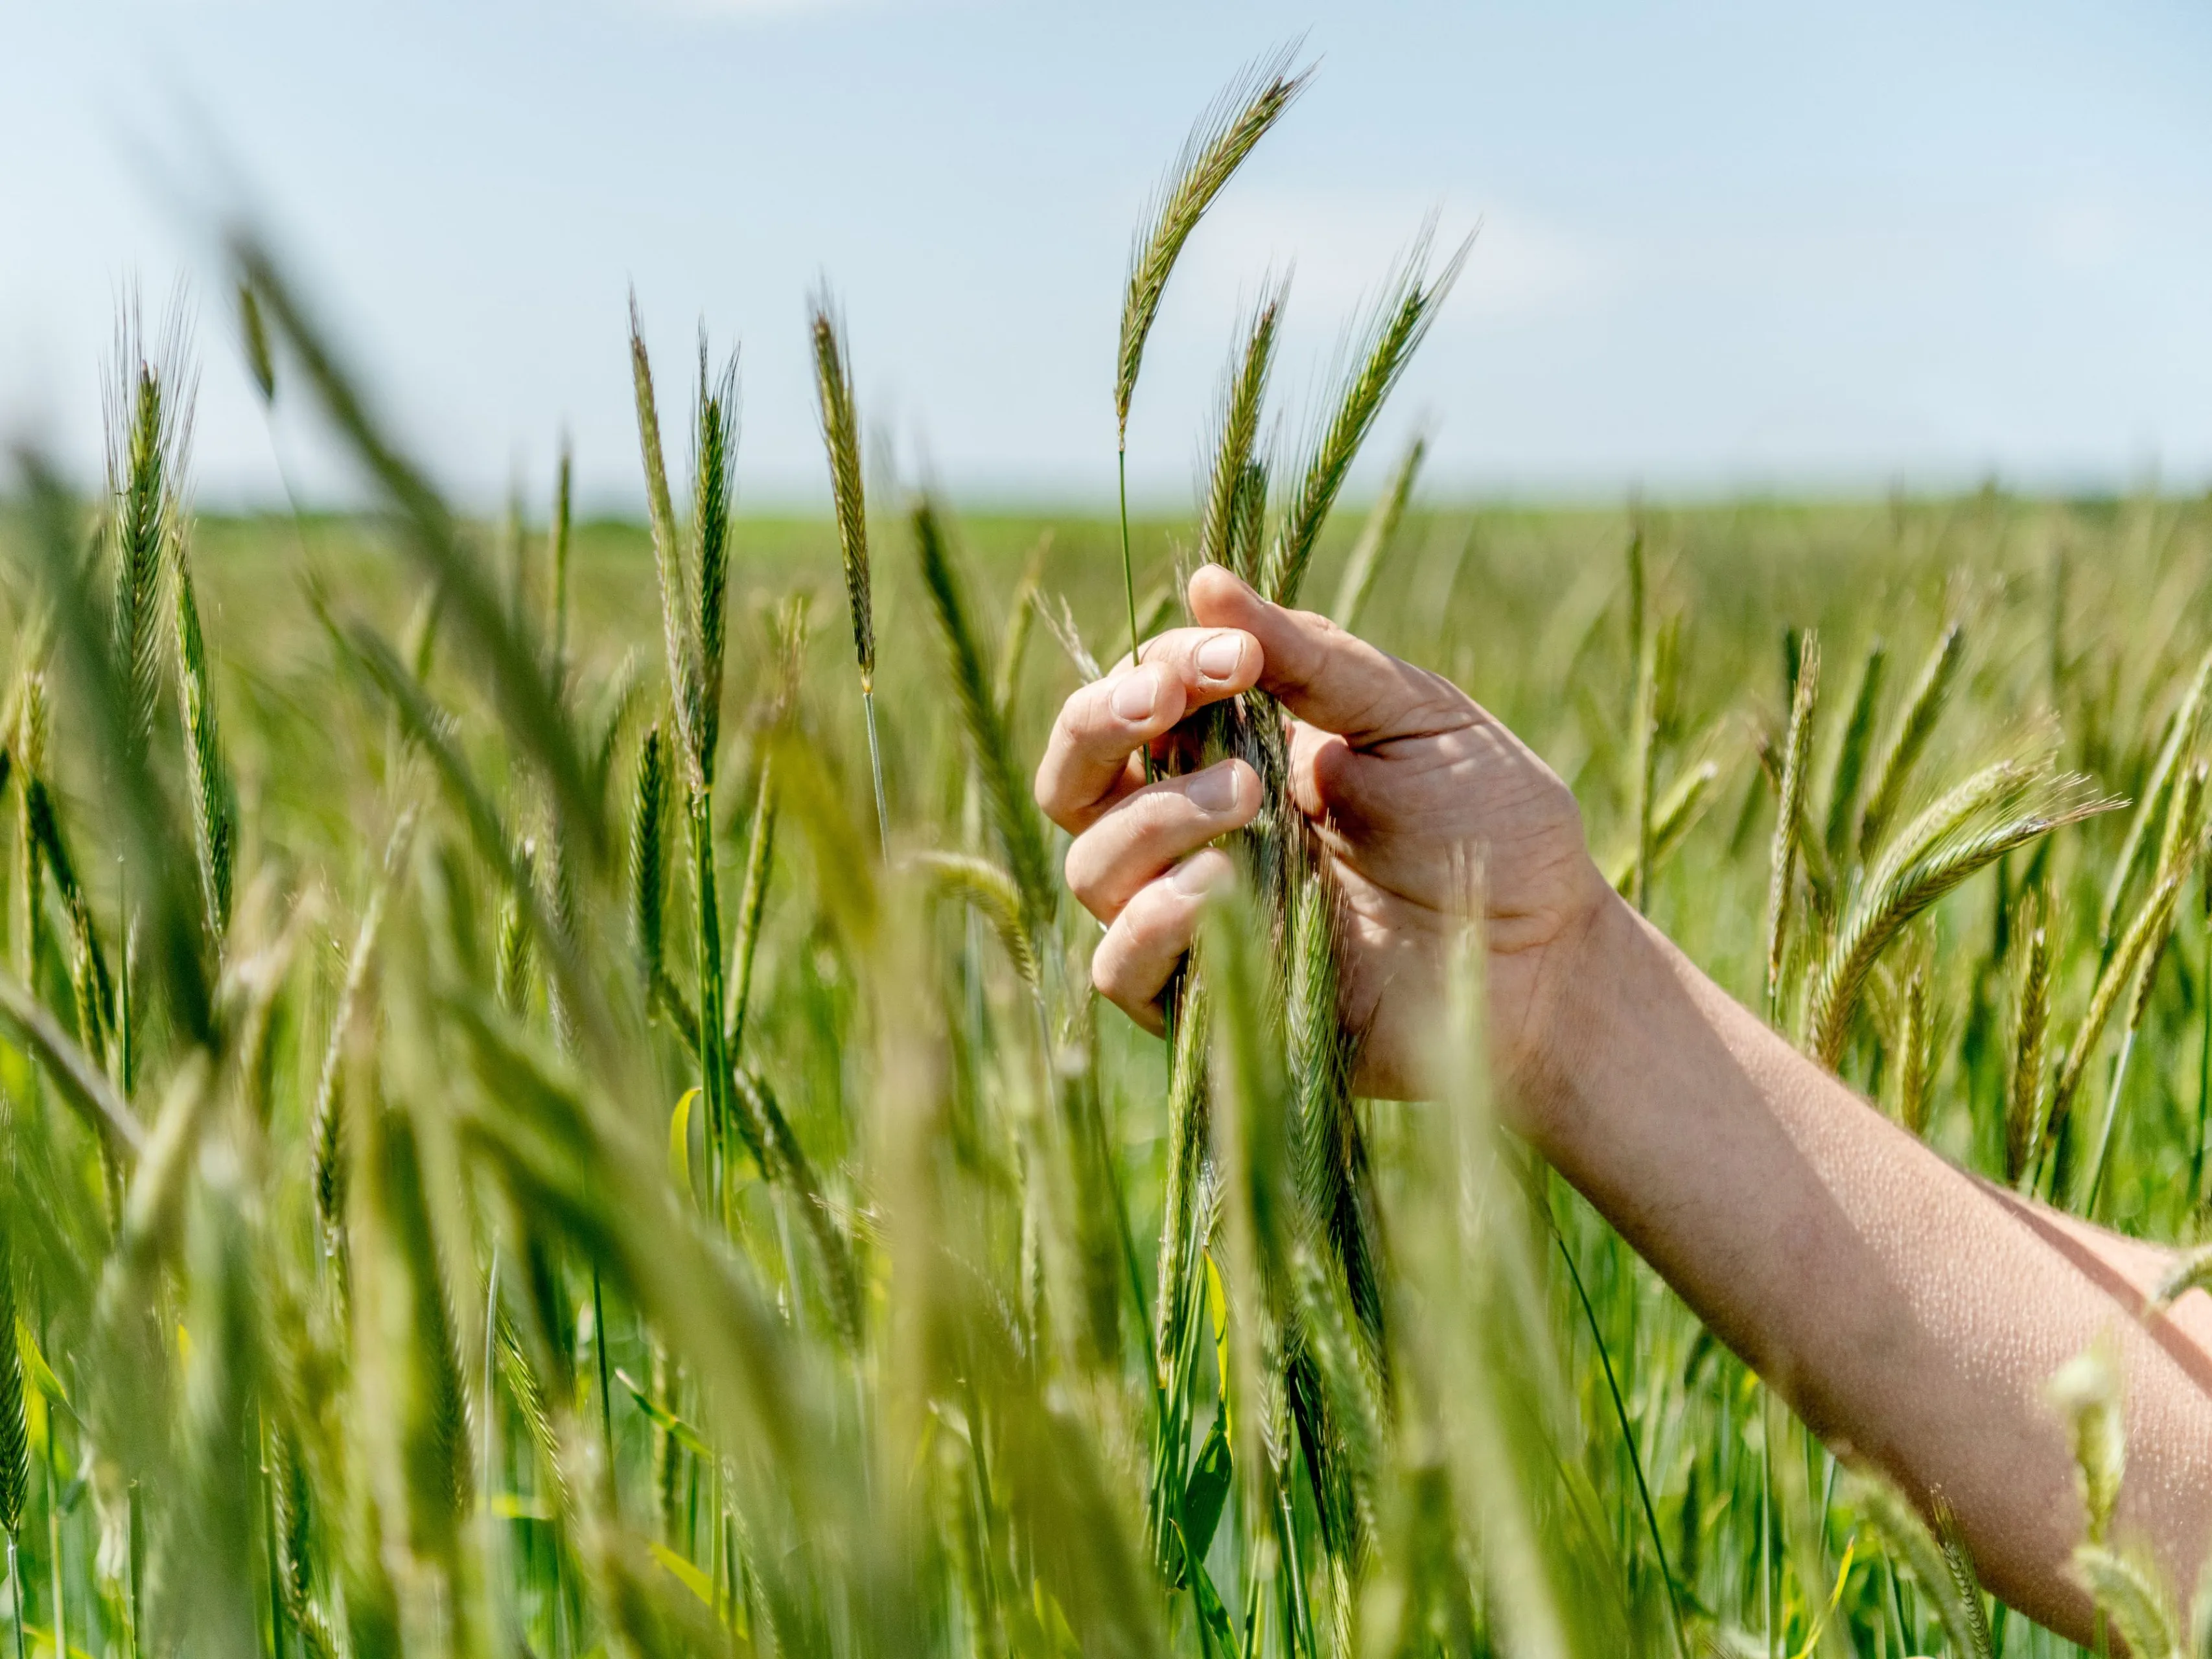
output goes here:
[[1568, 787], [1451, 681], [1228, 571], [1199, 622], [1075, 692], [1037, 768], [1068, 830], [1068, 887], [1106, 925], [1097, 989], [1157, 1031], [1190, 949], [1210, 841], [1252, 818], [1239, 761], [1144, 783], [1139, 752], [1208, 701], [1261, 686], [1296, 717], [1292, 790], [1352, 911], [1345, 1018], [1360, 1091], [1427, 1075], [1455, 854], [1484, 860], [1491, 1046], [1513, 1128], [1829, 1444], [1909, 1493], [1942, 1491], [1989, 1586], [2077, 1641], [2081, 1537], [2044, 1385], [2119, 1338], [2128, 1478], [2117, 1528], [2183, 1593], [2212, 1542], [2212, 1296], [2146, 1321], [2170, 1252], [1953, 1168], [1770, 1031], [1626, 907]]

